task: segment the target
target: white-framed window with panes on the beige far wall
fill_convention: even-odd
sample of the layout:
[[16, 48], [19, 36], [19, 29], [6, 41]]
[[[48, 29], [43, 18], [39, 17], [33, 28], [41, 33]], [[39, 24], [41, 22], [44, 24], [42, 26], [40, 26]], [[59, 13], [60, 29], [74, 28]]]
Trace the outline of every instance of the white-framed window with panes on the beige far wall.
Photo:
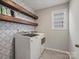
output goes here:
[[54, 10], [52, 12], [52, 29], [68, 29], [68, 9]]

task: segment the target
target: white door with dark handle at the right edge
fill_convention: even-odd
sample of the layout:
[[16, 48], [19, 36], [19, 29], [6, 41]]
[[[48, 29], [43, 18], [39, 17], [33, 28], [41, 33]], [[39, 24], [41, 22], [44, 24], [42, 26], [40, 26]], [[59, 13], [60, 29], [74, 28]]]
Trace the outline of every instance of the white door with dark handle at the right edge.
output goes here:
[[79, 44], [79, 0], [70, 1], [69, 12], [71, 52], [75, 59], [79, 59], [79, 48], [75, 44]]

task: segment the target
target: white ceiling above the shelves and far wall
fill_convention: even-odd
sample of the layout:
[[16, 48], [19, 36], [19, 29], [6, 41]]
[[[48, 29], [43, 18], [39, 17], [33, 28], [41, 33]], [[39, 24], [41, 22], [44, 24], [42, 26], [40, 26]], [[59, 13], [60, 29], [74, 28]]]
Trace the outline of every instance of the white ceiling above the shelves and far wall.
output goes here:
[[24, 0], [24, 3], [33, 10], [39, 10], [58, 4], [66, 3], [69, 0]]

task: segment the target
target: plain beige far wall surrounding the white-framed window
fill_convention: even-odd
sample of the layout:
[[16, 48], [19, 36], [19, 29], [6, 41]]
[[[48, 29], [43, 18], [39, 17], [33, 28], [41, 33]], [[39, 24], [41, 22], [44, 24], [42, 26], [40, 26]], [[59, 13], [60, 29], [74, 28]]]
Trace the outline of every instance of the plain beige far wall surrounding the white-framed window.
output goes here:
[[68, 51], [69, 38], [68, 30], [55, 31], [52, 29], [52, 12], [53, 10], [68, 8], [68, 4], [62, 4], [55, 7], [45, 8], [36, 11], [39, 16], [36, 28], [38, 32], [44, 32], [46, 36], [46, 47]]

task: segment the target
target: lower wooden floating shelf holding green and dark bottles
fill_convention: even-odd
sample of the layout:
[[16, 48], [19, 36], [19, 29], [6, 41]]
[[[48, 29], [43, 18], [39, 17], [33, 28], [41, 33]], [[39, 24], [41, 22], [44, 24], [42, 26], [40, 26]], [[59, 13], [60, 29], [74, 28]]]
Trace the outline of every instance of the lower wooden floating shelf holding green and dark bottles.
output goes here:
[[7, 15], [2, 15], [2, 14], [0, 14], [0, 21], [8, 21], [8, 22], [14, 22], [14, 23], [20, 23], [20, 24], [32, 25], [32, 26], [38, 25], [37, 23], [31, 22], [31, 21], [22, 20], [19, 18], [7, 16]]

